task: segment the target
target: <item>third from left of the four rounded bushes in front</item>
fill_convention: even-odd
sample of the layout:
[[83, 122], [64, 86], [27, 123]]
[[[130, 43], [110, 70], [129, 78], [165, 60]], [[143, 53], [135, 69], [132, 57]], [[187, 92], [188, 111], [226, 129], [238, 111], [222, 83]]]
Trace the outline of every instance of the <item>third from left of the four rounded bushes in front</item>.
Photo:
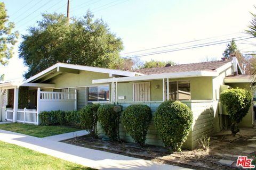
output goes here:
[[140, 146], [145, 144], [151, 121], [151, 109], [147, 105], [130, 105], [123, 112], [124, 128]]

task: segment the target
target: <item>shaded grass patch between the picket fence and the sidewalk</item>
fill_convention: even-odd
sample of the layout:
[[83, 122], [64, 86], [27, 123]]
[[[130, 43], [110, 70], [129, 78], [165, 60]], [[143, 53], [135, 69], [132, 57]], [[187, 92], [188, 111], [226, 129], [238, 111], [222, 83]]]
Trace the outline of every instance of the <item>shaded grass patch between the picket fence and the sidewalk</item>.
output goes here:
[[33, 137], [44, 138], [52, 135], [75, 132], [81, 129], [70, 128], [66, 126], [43, 126], [43, 125], [29, 125], [20, 123], [5, 123], [0, 124], [0, 129], [12, 131], [22, 134], [27, 134]]

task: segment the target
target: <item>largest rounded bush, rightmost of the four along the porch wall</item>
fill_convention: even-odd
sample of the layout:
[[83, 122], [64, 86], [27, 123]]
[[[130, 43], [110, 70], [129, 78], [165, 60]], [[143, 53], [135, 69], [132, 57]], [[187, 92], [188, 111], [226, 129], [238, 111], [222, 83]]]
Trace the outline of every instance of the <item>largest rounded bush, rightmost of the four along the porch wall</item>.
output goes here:
[[190, 108], [180, 101], [163, 102], [154, 115], [157, 134], [164, 146], [171, 151], [181, 151], [192, 123], [193, 114]]

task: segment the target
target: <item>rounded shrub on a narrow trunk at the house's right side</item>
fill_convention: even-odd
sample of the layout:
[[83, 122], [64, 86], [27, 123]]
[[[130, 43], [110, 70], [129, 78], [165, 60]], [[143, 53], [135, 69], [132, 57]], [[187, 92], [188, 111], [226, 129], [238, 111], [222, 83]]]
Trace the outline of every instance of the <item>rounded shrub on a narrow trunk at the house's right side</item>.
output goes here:
[[229, 114], [231, 121], [231, 132], [235, 136], [239, 132], [238, 123], [247, 114], [252, 104], [252, 95], [244, 89], [227, 89], [221, 92], [220, 100]]

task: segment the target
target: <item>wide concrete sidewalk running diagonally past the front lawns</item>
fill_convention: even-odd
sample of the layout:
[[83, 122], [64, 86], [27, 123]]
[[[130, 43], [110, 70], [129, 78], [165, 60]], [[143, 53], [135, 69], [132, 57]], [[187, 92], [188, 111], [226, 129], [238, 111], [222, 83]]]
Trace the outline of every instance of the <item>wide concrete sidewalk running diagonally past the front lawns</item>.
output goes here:
[[0, 140], [98, 169], [187, 169], [4, 130]]

